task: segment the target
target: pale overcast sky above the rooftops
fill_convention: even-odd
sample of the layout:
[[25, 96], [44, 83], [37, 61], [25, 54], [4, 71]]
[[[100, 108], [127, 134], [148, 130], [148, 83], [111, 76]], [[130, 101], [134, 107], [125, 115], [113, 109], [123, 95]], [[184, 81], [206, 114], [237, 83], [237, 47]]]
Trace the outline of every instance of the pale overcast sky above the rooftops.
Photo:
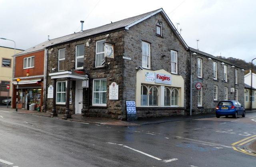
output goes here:
[[22, 50], [79, 32], [80, 20], [86, 30], [163, 8], [188, 46], [197, 49], [199, 39], [199, 50], [213, 56], [256, 58], [255, 0], [0, 0], [0, 7], [0, 37]]

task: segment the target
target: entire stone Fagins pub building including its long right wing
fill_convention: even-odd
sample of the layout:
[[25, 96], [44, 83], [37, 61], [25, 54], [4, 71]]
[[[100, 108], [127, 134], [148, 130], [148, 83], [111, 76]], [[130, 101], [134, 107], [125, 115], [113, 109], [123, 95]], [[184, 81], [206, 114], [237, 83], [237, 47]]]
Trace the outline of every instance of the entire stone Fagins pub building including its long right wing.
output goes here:
[[242, 69], [189, 48], [162, 8], [49, 42], [44, 111], [51, 116], [127, 119], [127, 101], [135, 102], [137, 117], [244, 102]]

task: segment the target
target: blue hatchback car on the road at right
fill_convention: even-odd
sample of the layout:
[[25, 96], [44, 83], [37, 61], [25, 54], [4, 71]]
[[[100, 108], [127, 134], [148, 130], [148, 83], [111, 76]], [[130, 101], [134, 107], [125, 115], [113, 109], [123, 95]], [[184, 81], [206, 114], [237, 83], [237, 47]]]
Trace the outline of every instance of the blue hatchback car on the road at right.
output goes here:
[[228, 117], [230, 115], [233, 116], [233, 118], [237, 118], [238, 115], [242, 115], [242, 117], [245, 117], [244, 105], [241, 105], [236, 100], [220, 101], [218, 103], [218, 106], [216, 107], [216, 117]]

